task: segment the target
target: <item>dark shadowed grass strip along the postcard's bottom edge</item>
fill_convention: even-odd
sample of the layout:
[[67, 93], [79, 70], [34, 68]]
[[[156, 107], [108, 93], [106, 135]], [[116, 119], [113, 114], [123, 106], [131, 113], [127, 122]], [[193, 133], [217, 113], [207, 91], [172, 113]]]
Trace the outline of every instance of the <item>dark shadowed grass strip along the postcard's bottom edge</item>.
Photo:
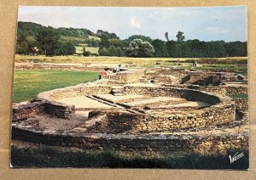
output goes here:
[[[244, 156], [230, 164], [229, 155], [235, 155], [236, 152], [243, 152]], [[248, 160], [247, 149], [230, 149], [214, 155], [85, 150], [42, 144], [38, 148], [13, 145], [11, 149], [11, 164], [20, 167], [247, 169]]]

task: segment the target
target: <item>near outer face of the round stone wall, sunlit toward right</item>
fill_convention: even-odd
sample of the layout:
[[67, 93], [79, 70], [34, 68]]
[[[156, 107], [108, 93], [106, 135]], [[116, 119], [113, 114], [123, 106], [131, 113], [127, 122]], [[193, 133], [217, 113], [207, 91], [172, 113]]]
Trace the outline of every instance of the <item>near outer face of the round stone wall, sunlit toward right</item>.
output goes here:
[[192, 127], [219, 126], [232, 122], [236, 118], [235, 105], [226, 105], [224, 109], [218, 107], [207, 108], [197, 113], [182, 114], [131, 114], [126, 112], [106, 113], [102, 125], [96, 127], [96, 132], [172, 132], [174, 130]]

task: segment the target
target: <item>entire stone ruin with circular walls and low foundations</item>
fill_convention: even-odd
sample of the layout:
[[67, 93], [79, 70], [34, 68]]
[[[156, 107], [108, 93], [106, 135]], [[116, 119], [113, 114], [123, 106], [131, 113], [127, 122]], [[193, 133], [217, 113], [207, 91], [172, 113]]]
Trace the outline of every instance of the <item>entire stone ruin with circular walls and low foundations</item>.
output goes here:
[[84, 149], [248, 148], [247, 83], [232, 72], [132, 69], [39, 93], [13, 108], [12, 138]]

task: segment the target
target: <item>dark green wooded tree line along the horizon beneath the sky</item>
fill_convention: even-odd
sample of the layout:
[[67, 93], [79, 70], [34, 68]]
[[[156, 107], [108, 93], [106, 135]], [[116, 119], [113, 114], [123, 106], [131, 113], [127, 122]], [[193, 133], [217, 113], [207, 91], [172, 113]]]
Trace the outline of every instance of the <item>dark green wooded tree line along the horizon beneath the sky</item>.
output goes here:
[[[89, 38], [97, 37], [97, 38]], [[99, 47], [102, 56], [128, 57], [172, 57], [172, 58], [221, 58], [247, 56], [247, 42], [204, 42], [198, 39], [187, 40], [178, 31], [175, 40], [152, 39], [143, 35], [133, 35], [121, 40], [115, 33], [98, 30], [96, 33], [79, 28], [53, 28], [30, 22], [19, 22], [16, 53], [69, 55], [76, 53], [75, 46], [86, 44]], [[86, 52], [89, 56], [90, 52]]]

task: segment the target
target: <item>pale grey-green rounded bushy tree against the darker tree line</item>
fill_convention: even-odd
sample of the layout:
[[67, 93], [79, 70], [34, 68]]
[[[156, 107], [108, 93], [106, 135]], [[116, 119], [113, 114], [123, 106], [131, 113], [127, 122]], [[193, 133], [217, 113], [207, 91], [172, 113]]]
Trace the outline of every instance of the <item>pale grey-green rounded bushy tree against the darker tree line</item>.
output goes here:
[[125, 50], [127, 55], [131, 57], [150, 57], [154, 54], [154, 47], [141, 39], [134, 39]]

